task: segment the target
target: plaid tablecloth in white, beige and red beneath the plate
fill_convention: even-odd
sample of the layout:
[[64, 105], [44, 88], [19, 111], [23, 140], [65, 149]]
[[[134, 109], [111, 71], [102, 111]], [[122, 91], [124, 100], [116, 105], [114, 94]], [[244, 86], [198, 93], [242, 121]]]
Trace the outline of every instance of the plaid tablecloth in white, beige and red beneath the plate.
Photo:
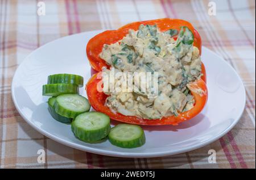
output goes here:
[[[42, 2], [46, 5], [46, 15], [39, 16], [39, 1], [0, 1], [1, 168], [255, 168], [254, 0]], [[209, 10], [214, 6], [216, 15], [214, 10]], [[203, 45], [224, 57], [243, 80], [246, 109], [236, 127], [221, 139], [176, 156], [100, 156], [48, 139], [16, 111], [11, 99], [11, 81], [17, 66], [34, 49], [78, 32], [118, 28], [138, 20], [164, 17], [191, 22], [200, 32]], [[39, 149], [46, 152], [45, 164], [38, 163]], [[208, 162], [209, 149], [216, 150], [216, 164]]]

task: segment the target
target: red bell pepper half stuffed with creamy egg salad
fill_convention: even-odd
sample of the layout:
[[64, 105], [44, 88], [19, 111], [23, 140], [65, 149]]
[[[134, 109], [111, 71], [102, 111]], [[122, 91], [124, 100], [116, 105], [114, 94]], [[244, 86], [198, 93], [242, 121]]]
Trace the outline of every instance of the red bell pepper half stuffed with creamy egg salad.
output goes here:
[[[104, 31], [90, 39], [86, 53], [92, 68], [99, 72], [86, 84], [88, 100], [96, 111], [111, 119], [131, 124], [177, 125], [199, 114], [207, 103], [201, 38], [185, 20], [148, 20]], [[110, 68], [115, 68], [114, 75], [123, 73], [114, 77], [111, 86], [126, 83], [127, 73], [133, 73], [133, 78], [134, 73], [157, 74], [158, 86], [142, 90], [142, 85], [133, 79], [130, 85], [137, 87], [136, 91], [124, 91], [122, 87], [109, 91], [106, 85], [109, 86]], [[106, 88], [99, 90], [102, 86]], [[157, 95], [150, 97], [154, 93]]]

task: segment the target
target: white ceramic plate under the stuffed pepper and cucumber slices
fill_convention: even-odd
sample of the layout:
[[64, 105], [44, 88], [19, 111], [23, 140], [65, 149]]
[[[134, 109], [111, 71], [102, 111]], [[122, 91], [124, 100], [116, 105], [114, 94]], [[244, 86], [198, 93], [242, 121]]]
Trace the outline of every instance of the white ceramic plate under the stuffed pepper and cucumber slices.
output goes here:
[[[56, 73], [79, 74], [85, 83], [90, 65], [85, 47], [101, 31], [63, 37], [36, 49], [19, 65], [11, 92], [14, 104], [28, 124], [49, 138], [87, 152], [117, 157], [158, 157], [183, 153], [212, 143], [225, 135], [240, 119], [245, 107], [245, 89], [234, 69], [220, 56], [203, 47], [202, 61], [207, 70], [209, 99], [195, 118], [177, 126], [144, 126], [146, 144], [139, 148], [118, 148], [105, 141], [84, 143], [73, 135], [71, 125], [54, 120], [47, 110], [48, 97], [42, 96], [47, 76]], [[86, 97], [84, 88], [81, 95]], [[114, 123], [114, 122], [113, 122]]]

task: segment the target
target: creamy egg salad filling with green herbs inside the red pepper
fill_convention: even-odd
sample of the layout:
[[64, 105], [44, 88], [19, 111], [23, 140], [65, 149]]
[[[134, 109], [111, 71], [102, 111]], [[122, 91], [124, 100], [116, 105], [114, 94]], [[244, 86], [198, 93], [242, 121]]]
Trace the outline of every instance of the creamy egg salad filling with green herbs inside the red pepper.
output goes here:
[[[156, 25], [141, 24], [138, 31], [129, 30], [129, 34], [117, 43], [105, 44], [100, 57], [115, 68], [115, 73], [158, 73], [158, 93], [154, 98], [148, 98], [154, 88], [143, 92], [110, 92], [104, 88], [104, 93], [109, 95], [106, 106], [113, 112], [143, 119], [161, 119], [193, 108], [195, 99], [187, 85], [202, 74], [200, 52], [193, 46], [193, 34], [189, 28], [161, 32]], [[105, 87], [110, 70], [102, 70]], [[118, 83], [124, 81], [123, 76], [115, 77], [114, 85], [120, 86]], [[131, 83], [135, 85], [134, 81]]]

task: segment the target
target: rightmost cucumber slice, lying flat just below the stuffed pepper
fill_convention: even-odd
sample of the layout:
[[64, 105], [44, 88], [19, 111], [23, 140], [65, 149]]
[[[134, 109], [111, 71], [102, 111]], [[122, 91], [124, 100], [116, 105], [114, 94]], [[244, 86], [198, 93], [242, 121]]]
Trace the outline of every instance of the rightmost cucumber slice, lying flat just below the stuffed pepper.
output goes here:
[[145, 144], [146, 137], [139, 125], [118, 124], [110, 129], [109, 141], [121, 148], [137, 148]]

